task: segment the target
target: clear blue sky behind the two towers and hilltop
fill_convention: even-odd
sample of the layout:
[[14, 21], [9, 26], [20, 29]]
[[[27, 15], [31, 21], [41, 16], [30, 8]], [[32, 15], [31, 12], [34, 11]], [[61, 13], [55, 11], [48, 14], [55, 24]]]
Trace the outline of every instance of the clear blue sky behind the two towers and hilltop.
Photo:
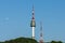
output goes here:
[[36, 40], [42, 22], [44, 41], [65, 41], [65, 0], [0, 0], [0, 41], [31, 38], [32, 3]]

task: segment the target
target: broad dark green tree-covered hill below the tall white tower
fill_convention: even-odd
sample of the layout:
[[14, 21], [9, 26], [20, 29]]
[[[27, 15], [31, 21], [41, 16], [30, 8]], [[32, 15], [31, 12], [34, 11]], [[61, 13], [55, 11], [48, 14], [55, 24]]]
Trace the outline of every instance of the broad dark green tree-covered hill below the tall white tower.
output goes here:
[[37, 43], [37, 41], [34, 39], [29, 39], [29, 38], [17, 38], [14, 40], [4, 41], [0, 43]]

